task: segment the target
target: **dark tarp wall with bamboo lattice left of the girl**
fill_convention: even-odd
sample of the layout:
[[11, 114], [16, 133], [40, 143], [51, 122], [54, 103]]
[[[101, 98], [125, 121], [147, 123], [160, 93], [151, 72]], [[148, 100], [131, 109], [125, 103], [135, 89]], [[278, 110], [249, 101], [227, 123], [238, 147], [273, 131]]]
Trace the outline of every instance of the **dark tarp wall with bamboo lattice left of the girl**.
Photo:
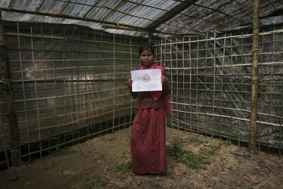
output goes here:
[[[26, 160], [129, 127], [126, 79], [139, 67], [141, 38], [77, 25], [5, 23], [21, 153]], [[0, 164], [10, 156], [0, 101]]]

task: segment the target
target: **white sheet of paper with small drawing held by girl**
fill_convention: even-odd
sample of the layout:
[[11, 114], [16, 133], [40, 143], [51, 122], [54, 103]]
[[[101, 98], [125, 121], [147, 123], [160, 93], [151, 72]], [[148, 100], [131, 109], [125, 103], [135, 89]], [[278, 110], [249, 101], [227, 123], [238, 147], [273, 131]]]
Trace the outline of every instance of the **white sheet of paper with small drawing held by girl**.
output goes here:
[[133, 92], [162, 90], [160, 69], [131, 71], [131, 77]]

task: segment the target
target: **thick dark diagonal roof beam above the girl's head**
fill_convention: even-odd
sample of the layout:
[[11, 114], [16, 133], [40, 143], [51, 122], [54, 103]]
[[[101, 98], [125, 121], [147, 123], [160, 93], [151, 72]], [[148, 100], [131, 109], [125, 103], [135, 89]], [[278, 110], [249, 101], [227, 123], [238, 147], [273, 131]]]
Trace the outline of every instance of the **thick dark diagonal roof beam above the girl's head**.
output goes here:
[[161, 23], [165, 23], [165, 22], [169, 21], [171, 18], [176, 16], [178, 13], [182, 12], [186, 8], [189, 8], [189, 6], [193, 5], [193, 3], [196, 3], [196, 1], [198, 1], [198, 0], [182, 1], [182, 3], [176, 5], [174, 8], [170, 9], [168, 12], [163, 14], [163, 16], [157, 18], [157, 20], [155, 20], [153, 23], [146, 26], [146, 29], [152, 30], [156, 27], [159, 27], [159, 25], [161, 25]]

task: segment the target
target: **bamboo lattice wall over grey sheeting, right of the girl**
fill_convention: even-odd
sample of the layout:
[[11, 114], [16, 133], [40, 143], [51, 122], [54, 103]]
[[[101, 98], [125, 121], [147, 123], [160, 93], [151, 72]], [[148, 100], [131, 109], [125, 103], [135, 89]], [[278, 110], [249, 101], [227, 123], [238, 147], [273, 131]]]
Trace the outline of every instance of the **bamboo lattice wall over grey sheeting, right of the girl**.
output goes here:
[[[260, 33], [258, 148], [282, 153], [283, 30]], [[249, 142], [252, 34], [157, 40], [157, 60], [171, 75], [170, 127]]]

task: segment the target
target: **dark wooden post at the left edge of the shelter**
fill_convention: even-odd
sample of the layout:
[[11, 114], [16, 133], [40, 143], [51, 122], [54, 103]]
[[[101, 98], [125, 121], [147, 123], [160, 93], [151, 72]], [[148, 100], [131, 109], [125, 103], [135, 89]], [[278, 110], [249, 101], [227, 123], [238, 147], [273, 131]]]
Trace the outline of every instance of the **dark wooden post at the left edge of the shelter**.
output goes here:
[[8, 58], [7, 45], [4, 38], [4, 25], [2, 12], [0, 10], [0, 84], [4, 88], [5, 103], [7, 105], [8, 121], [10, 129], [10, 149], [12, 166], [21, 166], [20, 137], [18, 134], [18, 122], [16, 119], [16, 109], [14, 107], [14, 97], [11, 85], [10, 62]]

